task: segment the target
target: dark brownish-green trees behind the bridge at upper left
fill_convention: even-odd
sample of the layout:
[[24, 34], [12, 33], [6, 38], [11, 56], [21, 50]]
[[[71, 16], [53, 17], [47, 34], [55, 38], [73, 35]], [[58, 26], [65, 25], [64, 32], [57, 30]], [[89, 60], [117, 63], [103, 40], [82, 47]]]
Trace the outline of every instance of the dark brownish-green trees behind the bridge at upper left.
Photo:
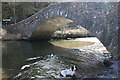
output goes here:
[[26, 19], [51, 4], [50, 2], [3, 2], [2, 19], [11, 19], [9, 22], [3, 21], [3, 25], [15, 24]]

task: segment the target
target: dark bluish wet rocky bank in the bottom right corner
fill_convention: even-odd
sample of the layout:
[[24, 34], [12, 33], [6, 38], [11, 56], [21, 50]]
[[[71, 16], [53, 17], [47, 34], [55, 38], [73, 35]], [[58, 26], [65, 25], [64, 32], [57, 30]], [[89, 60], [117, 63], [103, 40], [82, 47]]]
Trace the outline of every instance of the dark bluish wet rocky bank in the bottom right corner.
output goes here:
[[[111, 66], [109, 66], [107, 69], [105, 69], [104, 71], [101, 71], [99, 73], [96, 74], [92, 74], [92, 75], [86, 75], [86, 76], [82, 76], [81, 78], [84, 79], [88, 79], [89, 78], [96, 78], [95, 80], [103, 80], [103, 79], [111, 79], [111, 80], [119, 80], [119, 74], [118, 74], [118, 62], [120, 62], [120, 60], [110, 60], [112, 62]], [[111, 69], [112, 67], [112, 69]]]

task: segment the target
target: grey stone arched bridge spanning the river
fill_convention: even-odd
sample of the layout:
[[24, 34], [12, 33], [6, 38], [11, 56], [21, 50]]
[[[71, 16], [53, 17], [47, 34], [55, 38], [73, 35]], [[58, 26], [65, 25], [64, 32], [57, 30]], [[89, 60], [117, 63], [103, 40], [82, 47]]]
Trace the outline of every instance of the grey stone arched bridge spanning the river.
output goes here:
[[[98, 37], [111, 53], [118, 54], [117, 2], [55, 3], [25, 20], [4, 28], [11, 33], [20, 33], [22, 36], [30, 38], [42, 22], [53, 17], [73, 20]], [[54, 32], [55, 30], [51, 29], [50, 31]], [[115, 57], [117, 58], [117, 56]]]

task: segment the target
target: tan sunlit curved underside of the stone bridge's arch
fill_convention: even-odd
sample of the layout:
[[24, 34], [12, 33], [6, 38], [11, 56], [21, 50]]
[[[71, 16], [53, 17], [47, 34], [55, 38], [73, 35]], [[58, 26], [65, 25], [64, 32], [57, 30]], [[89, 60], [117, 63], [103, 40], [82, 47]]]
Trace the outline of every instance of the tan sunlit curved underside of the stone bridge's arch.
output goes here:
[[32, 33], [31, 40], [40, 40], [40, 39], [51, 39], [52, 35], [57, 29], [68, 27], [68, 24], [76, 24], [74, 21], [63, 18], [63, 17], [53, 17], [46, 19], [41, 23], [36, 30]]

